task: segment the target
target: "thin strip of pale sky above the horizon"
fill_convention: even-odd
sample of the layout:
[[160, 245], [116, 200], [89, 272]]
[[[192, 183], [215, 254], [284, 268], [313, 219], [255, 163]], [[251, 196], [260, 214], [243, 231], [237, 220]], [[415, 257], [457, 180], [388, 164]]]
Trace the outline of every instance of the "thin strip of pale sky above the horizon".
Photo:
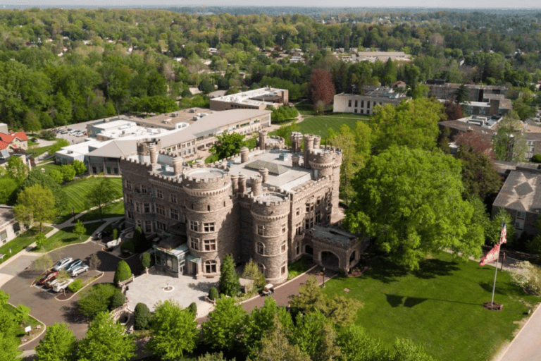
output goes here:
[[[266, 6], [268, 3], [253, 0], [1, 0], [9, 7], [62, 7], [62, 6]], [[319, 6], [319, 7], [397, 7], [397, 8], [539, 8], [540, 0], [275, 0], [273, 6]]]

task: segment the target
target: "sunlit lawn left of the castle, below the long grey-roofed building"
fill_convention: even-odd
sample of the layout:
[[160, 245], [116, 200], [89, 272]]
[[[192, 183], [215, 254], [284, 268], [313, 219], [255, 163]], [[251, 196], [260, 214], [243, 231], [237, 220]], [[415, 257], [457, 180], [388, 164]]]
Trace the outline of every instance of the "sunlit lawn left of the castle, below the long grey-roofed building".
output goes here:
[[[92, 185], [99, 181], [101, 181], [100, 177], [89, 177], [64, 185], [62, 189], [68, 195], [68, 204], [66, 206], [66, 212], [60, 216], [58, 221], [62, 222], [70, 218], [72, 209], [74, 209], [75, 214], [88, 209], [87, 195]], [[122, 195], [122, 178], [111, 178], [111, 181], [119, 194]]]

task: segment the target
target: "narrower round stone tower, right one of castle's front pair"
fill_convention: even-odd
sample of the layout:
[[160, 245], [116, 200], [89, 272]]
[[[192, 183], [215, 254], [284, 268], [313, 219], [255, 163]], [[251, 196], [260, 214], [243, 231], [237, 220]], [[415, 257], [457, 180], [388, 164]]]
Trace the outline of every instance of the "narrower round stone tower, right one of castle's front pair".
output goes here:
[[290, 199], [280, 192], [267, 192], [251, 203], [254, 262], [270, 283], [287, 280], [287, 219]]

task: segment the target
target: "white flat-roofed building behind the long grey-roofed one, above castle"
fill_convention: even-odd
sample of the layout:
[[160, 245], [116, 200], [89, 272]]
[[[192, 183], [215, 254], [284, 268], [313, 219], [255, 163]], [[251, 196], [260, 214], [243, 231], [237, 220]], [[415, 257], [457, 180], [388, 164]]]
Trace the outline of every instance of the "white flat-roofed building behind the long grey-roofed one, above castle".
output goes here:
[[289, 91], [263, 87], [248, 92], [225, 95], [211, 99], [211, 110], [223, 111], [228, 109], [266, 109], [268, 106], [278, 108], [289, 102]]

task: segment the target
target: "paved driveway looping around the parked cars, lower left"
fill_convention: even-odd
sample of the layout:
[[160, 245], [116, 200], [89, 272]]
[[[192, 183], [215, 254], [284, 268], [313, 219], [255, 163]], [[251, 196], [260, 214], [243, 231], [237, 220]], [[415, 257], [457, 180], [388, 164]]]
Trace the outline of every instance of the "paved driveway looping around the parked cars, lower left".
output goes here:
[[[51, 252], [51, 257], [56, 260], [62, 257], [80, 258], [88, 262], [90, 255], [97, 253], [101, 260], [101, 265], [98, 268], [99, 271], [104, 271], [104, 276], [98, 279], [97, 283], [112, 282], [114, 272], [116, 271], [116, 265], [120, 261], [118, 257], [110, 255], [108, 252], [101, 250], [103, 245], [89, 241], [78, 245], [70, 245], [64, 247], [61, 250]], [[58, 301], [55, 299], [56, 294], [36, 286], [30, 286], [37, 276], [39, 271], [36, 271], [33, 267], [32, 261], [35, 257], [22, 256], [18, 259], [14, 259], [11, 264], [3, 267], [1, 271], [6, 271], [14, 274], [13, 279], [4, 283], [1, 289], [10, 294], [9, 301], [13, 305], [23, 303], [27, 307], [31, 308], [30, 314], [39, 319], [47, 326], [54, 324], [55, 322], [66, 322], [70, 324], [70, 329], [73, 330], [77, 338], [85, 336], [87, 331], [87, 320], [77, 312], [77, 300], [79, 296], [66, 301]], [[140, 262], [137, 256], [131, 257], [127, 260], [128, 264], [132, 268], [134, 274], [139, 274]], [[26, 268], [26, 269], [25, 269]], [[32, 341], [25, 345], [23, 350], [30, 350], [35, 348], [39, 340]]]

